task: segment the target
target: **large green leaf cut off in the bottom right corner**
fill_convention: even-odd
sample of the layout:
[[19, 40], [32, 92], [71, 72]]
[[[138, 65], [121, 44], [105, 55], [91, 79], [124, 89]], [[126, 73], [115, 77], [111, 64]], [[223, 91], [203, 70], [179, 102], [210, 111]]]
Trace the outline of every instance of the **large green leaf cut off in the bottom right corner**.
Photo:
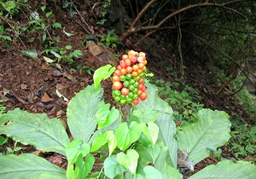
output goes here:
[[218, 179], [255, 179], [256, 166], [248, 162], [239, 161], [236, 164], [231, 160], [218, 162], [217, 165], [208, 165], [189, 179], [218, 178]]

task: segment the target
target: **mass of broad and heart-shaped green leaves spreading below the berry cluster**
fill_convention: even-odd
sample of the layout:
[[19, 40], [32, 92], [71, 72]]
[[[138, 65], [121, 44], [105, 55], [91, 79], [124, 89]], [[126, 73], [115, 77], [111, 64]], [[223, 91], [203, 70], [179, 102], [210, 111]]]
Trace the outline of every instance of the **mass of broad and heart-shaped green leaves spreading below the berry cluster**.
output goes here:
[[[101, 72], [99, 74], [101, 76]], [[34, 154], [3, 155], [0, 156], [1, 178], [67, 176], [75, 179], [91, 175], [127, 179], [182, 178], [177, 170], [178, 149], [187, 151], [183, 159], [191, 160], [195, 165], [209, 156], [208, 151], [220, 147], [230, 137], [227, 114], [210, 109], [201, 110], [197, 122], [176, 132], [172, 107], [160, 99], [157, 88], [152, 84], [147, 84], [148, 98], [133, 106], [130, 118], [120, 123], [120, 113], [114, 107], [109, 110], [110, 105], [105, 104], [102, 98], [101, 82], [98, 83], [97, 88], [87, 86], [68, 103], [67, 124], [74, 139], [71, 142], [61, 121], [56, 118], [49, 120], [45, 114], [27, 113], [20, 109], [3, 114], [0, 117], [0, 134], [23, 144], [32, 144], [38, 150], [61, 153], [67, 157], [68, 166], [67, 171], [62, 170]], [[96, 160], [91, 152], [106, 151], [108, 157], [105, 154], [104, 161], [98, 159], [103, 164], [101, 172], [90, 174]], [[235, 165], [229, 161], [219, 165], [223, 164], [220, 171], [231, 172], [236, 168], [238, 172], [241, 167], [241, 178], [253, 176], [256, 172], [251, 164]], [[34, 168], [38, 170], [32, 171]], [[201, 178], [201, 173], [194, 178]], [[203, 175], [211, 176], [212, 170], [206, 168]], [[232, 173], [218, 173], [220, 178], [226, 175], [234, 176]]]

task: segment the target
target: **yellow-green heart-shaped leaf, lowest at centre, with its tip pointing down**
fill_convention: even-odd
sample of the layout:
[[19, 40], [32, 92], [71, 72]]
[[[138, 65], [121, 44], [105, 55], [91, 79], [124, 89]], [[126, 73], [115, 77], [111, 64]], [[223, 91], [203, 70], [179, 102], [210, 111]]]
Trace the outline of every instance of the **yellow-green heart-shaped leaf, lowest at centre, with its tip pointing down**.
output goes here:
[[134, 176], [136, 175], [138, 158], [139, 155], [134, 149], [127, 150], [127, 154], [121, 152], [118, 153], [116, 156], [119, 164], [125, 166], [126, 169], [130, 170]]

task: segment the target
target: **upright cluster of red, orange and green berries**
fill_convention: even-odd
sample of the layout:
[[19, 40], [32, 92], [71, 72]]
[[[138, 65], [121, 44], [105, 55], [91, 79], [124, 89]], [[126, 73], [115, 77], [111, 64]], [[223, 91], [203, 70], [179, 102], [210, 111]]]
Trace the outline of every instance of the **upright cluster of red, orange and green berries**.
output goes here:
[[137, 105], [140, 101], [146, 100], [146, 86], [144, 78], [147, 71], [147, 60], [144, 52], [137, 53], [130, 50], [128, 55], [122, 55], [119, 66], [113, 73], [113, 100], [121, 106], [126, 103]]

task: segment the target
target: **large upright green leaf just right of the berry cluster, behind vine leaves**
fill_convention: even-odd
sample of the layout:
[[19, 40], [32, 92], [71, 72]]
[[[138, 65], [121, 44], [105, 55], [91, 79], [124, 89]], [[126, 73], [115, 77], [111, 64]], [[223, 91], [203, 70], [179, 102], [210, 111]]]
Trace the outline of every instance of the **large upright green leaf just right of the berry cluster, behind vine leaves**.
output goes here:
[[171, 157], [172, 166], [177, 166], [176, 125], [172, 119], [172, 107], [158, 96], [156, 86], [146, 83], [148, 98], [133, 108], [131, 115], [141, 123], [154, 122], [159, 126], [159, 140], [163, 141]]

